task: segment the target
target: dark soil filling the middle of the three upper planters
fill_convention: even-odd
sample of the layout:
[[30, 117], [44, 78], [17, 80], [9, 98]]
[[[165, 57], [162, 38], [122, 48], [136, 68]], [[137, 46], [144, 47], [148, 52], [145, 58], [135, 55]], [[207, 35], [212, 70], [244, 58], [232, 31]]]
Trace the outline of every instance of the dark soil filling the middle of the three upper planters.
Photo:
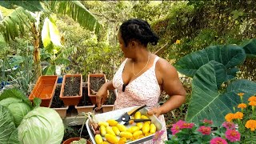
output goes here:
[[64, 96], [78, 96], [81, 85], [80, 77], [67, 77], [64, 86]]

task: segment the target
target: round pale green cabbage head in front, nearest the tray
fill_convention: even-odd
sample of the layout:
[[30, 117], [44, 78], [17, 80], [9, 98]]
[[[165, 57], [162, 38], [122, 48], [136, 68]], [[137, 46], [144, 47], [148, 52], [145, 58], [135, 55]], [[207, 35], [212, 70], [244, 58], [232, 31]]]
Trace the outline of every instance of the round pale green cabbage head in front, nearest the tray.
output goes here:
[[18, 140], [24, 144], [59, 144], [63, 136], [62, 118], [48, 107], [31, 110], [18, 126]]

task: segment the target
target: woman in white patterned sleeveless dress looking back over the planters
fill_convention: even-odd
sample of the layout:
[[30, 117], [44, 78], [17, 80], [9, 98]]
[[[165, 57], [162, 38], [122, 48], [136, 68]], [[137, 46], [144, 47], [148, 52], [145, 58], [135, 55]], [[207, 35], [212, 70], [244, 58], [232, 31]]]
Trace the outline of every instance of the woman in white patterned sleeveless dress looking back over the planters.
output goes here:
[[[133, 18], [122, 23], [118, 41], [126, 59], [114, 74], [113, 80], [106, 82], [98, 90], [96, 102], [100, 108], [106, 101], [106, 91], [117, 89], [114, 110], [146, 104], [150, 109], [148, 114], [155, 114], [164, 123], [162, 140], [167, 140], [166, 123], [162, 114], [181, 106], [186, 100], [186, 91], [174, 66], [147, 50], [148, 43], [156, 45], [158, 39], [146, 21]], [[162, 90], [170, 98], [162, 106], [158, 106]]]

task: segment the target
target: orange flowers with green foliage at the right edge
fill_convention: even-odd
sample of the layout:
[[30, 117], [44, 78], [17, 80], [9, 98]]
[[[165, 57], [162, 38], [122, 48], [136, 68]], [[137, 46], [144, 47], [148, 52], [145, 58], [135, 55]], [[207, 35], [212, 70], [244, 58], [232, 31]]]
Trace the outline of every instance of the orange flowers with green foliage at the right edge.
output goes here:
[[238, 131], [241, 134], [241, 143], [256, 143], [256, 114], [254, 107], [256, 106], [256, 96], [248, 98], [247, 104], [243, 102], [244, 93], [239, 93], [241, 103], [238, 104], [236, 113], [226, 114], [227, 122], [238, 124]]

